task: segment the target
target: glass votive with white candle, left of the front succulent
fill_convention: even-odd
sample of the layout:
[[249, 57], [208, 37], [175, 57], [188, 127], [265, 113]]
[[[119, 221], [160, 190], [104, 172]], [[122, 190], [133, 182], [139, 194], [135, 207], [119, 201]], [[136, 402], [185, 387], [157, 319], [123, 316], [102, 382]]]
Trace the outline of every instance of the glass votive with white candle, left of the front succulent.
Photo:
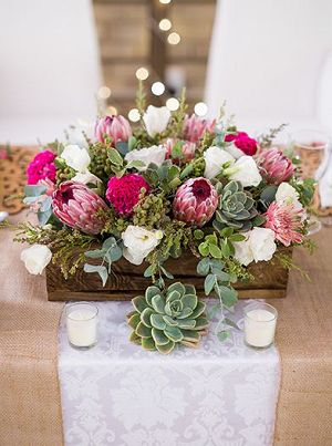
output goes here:
[[71, 346], [87, 350], [97, 342], [97, 307], [72, 303], [65, 308], [66, 334]]

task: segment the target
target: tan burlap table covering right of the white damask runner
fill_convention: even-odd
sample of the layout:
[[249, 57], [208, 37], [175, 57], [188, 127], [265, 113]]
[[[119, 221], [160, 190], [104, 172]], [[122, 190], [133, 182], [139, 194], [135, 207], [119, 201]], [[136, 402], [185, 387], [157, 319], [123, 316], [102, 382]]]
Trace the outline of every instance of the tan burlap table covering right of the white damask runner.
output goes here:
[[277, 344], [282, 378], [276, 446], [332, 445], [332, 228], [312, 239], [313, 256], [294, 250], [294, 262], [312, 283], [292, 272], [279, 311]]

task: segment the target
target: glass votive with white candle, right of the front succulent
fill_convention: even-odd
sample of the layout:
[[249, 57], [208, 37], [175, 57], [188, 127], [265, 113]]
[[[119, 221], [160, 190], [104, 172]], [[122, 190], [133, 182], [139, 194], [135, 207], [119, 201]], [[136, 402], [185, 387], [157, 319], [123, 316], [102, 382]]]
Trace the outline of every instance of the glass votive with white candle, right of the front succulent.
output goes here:
[[245, 343], [255, 349], [273, 344], [278, 311], [264, 302], [255, 302], [245, 308]]

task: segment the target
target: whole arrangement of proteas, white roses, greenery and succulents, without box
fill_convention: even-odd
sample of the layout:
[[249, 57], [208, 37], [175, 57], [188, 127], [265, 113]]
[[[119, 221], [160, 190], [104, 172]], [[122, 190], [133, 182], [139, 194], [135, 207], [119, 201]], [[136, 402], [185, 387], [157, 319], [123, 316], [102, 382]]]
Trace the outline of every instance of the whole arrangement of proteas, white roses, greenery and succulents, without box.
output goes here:
[[[19, 225], [17, 239], [32, 245], [21, 258], [33, 274], [53, 261], [65, 278], [83, 268], [105, 284], [121, 258], [133, 269], [146, 262], [152, 286], [133, 299], [131, 340], [168, 353], [197, 345], [208, 318], [193, 284], [166, 286], [174, 279], [167, 259], [190, 251], [206, 295], [231, 308], [234, 283], [255, 280], [250, 263], [276, 257], [290, 267], [278, 246], [308, 245], [313, 183], [271, 146], [277, 131], [255, 139], [224, 114], [188, 115], [184, 97], [173, 113], [146, 107], [142, 86], [137, 110], [133, 127], [124, 116], [101, 116], [92, 133], [71, 131], [34, 157], [24, 203], [39, 226]], [[225, 324], [231, 321], [222, 320], [220, 339]]]

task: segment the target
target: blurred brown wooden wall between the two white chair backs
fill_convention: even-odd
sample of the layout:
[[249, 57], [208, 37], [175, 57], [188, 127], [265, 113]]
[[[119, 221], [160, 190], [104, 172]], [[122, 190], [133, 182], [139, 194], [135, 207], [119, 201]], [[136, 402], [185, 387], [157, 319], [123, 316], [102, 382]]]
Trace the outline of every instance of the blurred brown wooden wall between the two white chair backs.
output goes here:
[[[191, 106], [204, 97], [206, 63], [215, 14], [215, 1], [173, 0], [94, 0], [104, 83], [112, 90], [108, 100], [120, 113], [134, 106], [137, 86], [135, 72], [145, 66], [155, 81], [165, 83], [167, 72], [180, 72], [187, 86]], [[158, 20], [168, 18], [173, 28], [163, 32]], [[167, 43], [169, 32], [181, 37], [178, 45]], [[155, 104], [164, 104], [174, 92], [152, 96]]]

